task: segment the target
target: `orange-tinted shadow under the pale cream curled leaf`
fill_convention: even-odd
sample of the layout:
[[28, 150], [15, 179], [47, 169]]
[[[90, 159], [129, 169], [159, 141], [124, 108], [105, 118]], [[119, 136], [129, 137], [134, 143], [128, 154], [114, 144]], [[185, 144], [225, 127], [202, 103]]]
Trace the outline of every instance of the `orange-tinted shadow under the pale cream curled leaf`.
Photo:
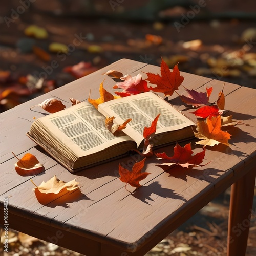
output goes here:
[[86, 195], [82, 194], [80, 189], [68, 192], [63, 191], [63, 193], [58, 194], [42, 194], [36, 189], [35, 196], [40, 204], [51, 208], [55, 208], [56, 206], [68, 208], [69, 203], [74, 203], [80, 201], [81, 199], [91, 200]]

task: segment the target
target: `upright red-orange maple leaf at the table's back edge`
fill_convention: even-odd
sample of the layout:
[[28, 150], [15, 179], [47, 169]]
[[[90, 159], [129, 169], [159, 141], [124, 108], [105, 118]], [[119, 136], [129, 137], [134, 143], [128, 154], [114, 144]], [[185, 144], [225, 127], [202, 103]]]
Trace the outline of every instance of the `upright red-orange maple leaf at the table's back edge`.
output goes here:
[[164, 96], [170, 96], [184, 81], [184, 77], [180, 75], [178, 65], [174, 66], [173, 71], [170, 71], [168, 65], [162, 59], [161, 62], [161, 76], [159, 74], [155, 75], [153, 73], [146, 73], [148, 82], [156, 84], [156, 87], [150, 87], [150, 90], [154, 92], [162, 92]]

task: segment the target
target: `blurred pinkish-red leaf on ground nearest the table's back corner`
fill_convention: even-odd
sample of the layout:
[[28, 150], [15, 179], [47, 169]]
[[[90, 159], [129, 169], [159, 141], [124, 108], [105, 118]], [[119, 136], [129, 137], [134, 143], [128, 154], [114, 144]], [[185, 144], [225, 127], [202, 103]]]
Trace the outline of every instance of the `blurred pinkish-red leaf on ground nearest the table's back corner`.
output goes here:
[[81, 61], [74, 66], [67, 66], [63, 69], [64, 72], [70, 73], [75, 78], [81, 78], [83, 76], [89, 75], [96, 71], [97, 68], [93, 67], [91, 63]]

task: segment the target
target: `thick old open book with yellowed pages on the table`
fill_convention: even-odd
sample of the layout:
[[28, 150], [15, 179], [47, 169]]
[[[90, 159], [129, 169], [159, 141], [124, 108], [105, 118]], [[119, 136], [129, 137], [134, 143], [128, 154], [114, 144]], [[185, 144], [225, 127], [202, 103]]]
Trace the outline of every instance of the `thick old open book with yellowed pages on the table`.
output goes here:
[[[33, 122], [27, 135], [70, 172], [105, 162], [143, 147], [144, 127], [159, 114], [155, 146], [194, 137], [193, 121], [152, 92], [131, 95], [99, 104], [98, 110], [82, 102]], [[126, 128], [113, 135], [105, 117], [114, 116]]]

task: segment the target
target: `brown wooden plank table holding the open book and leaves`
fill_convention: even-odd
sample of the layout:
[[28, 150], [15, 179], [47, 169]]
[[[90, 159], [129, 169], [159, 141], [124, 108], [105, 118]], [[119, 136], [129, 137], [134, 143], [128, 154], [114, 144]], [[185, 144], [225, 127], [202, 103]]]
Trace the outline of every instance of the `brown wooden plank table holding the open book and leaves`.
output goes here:
[[[228, 255], [244, 255], [247, 245], [250, 214], [255, 182], [255, 126], [256, 90], [226, 83], [225, 115], [233, 115], [250, 126], [238, 125], [232, 134], [230, 147], [219, 144], [207, 147], [204, 163], [208, 165], [193, 169], [176, 169], [171, 175], [156, 166], [156, 159], [147, 159], [146, 172], [150, 172], [143, 185], [135, 193], [125, 190], [119, 180], [118, 163], [131, 166], [137, 157], [125, 157], [81, 172], [71, 174], [54, 159], [36, 146], [25, 133], [29, 131], [33, 117], [44, 112], [31, 111], [30, 107], [48, 98], [59, 98], [69, 103], [69, 97], [78, 100], [99, 97], [99, 84], [112, 91], [115, 81], [102, 73], [115, 69], [125, 74], [143, 72], [160, 73], [160, 67], [127, 59], [121, 59], [93, 74], [73, 81], [66, 86], [37, 97], [0, 115], [1, 122], [1, 224], [3, 225], [4, 198], [8, 197], [9, 228], [30, 234], [39, 239], [56, 243], [82, 254], [90, 255], [144, 255], [153, 246], [178, 228], [188, 218], [232, 185]], [[143, 77], [146, 78], [144, 73]], [[223, 82], [183, 73], [183, 85], [188, 89], [205, 91], [212, 86], [210, 101], [216, 101]], [[180, 87], [179, 93], [185, 94]], [[177, 94], [169, 97], [179, 110], [194, 118]], [[36, 109], [34, 109], [36, 110]], [[191, 145], [195, 150], [196, 139]], [[184, 145], [184, 143], [182, 144]], [[45, 171], [34, 176], [20, 176], [15, 172], [16, 158], [25, 153], [34, 154]], [[161, 148], [168, 155], [173, 146]], [[44, 206], [34, 192], [35, 184], [58, 179], [80, 182], [80, 195], [61, 198]]]

